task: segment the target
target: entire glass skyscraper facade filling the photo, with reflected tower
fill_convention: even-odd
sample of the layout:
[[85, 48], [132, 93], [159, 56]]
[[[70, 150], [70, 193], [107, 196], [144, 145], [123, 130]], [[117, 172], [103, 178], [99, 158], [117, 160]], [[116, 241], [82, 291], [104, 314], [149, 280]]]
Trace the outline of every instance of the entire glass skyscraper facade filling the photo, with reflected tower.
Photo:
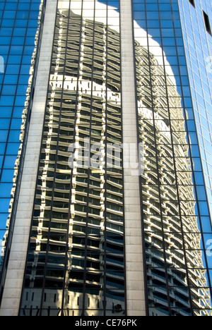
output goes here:
[[[40, 92], [45, 100], [42, 120], [36, 88], [42, 90], [38, 60], [43, 61], [42, 28], [50, 21], [46, 2], [42, 10], [40, 1], [15, 1], [17, 10], [9, 12], [10, 2], [2, 3], [1, 313], [119, 317], [135, 310], [146, 316], [212, 316], [211, 3], [52, 0], [55, 23], [46, 60], [49, 71], [45, 63], [43, 75], [47, 90]], [[129, 44], [122, 42], [124, 20], [131, 26]], [[8, 32], [10, 37], [5, 37]], [[50, 32], [43, 37], [50, 40]], [[135, 91], [127, 105], [129, 49]], [[36, 125], [41, 132], [40, 140], [37, 131], [33, 135], [37, 163], [30, 153], [36, 173], [26, 173], [26, 178], [23, 170], [23, 182], [19, 164], [24, 168], [30, 158], [25, 159], [19, 135], [30, 149], [33, 106], [40, 114]], [[127, 107], [136, 119], [126, 119]], [[136, 131], [135, 153], [133, 144], [126, 143], [127, 126]], [[137, 166], [133, 164], [137, 171], [131, 177], [126, 174], [129, 151], [135, 157], [127, 163]], [[23, 182], [20, 190], [16, 176], [19, 185]], [[136, 219], [136, 199], [131, 197], [129, 207], [127, 188], [135, 176]], [[27, 185], [33, 193], [22, 210]], [[20, 209], [17, 216], [13, 205]], [[141, 253], [135, 249], [129, 258], [132, 222], [141, 226], [136, 236], [142, 244]], [[21, 245], [13, 228], [21, 226], [24, 233], [26, 223], [29, 230]], [[136, 238], [132, 240], [133, 246]], [[25, 252], [23, 272], [18, 273], [18, 289], [13, 286], [15, 274], [4, 288], [15, 247], [12, 257], [8, 251], [17, 242], [16, 251]], [[140, 281], [138, 288], [133, 276]], [[11, 302], [8, 295], [14, 291], [16, 301]]]

